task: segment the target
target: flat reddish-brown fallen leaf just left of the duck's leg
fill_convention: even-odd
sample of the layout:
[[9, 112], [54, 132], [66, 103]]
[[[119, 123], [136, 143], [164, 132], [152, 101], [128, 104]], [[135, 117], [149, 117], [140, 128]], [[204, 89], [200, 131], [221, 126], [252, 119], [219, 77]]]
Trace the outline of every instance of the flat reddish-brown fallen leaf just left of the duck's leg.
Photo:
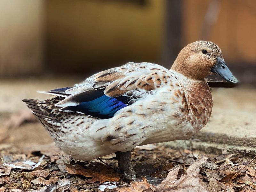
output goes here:
[[70, 174], [83, 175], [85, 177], [92, 177], [92, 179], [86, 180], [86, 182], [94, 183], [99, 181], [101, 183], [105, 181], [118, 181], [122, 174], [113, 172], [109, 169], [104, 169], [101, 172], [95, 172], [91, 169], [84, 169], [83, 167], [76, 165], [73, 166], [71, 164], [65, 164], [66, 170]]

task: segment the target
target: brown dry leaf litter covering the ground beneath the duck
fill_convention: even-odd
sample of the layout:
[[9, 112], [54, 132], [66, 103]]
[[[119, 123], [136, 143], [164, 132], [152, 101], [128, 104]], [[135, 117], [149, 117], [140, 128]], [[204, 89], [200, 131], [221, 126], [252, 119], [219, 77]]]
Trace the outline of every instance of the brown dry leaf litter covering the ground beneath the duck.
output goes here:
[[22, 152], [0, 151], [0, 191], [256, 191], [255, 162], [234, 154], [181, 151], [163, 144], [136, 148], [132, 163], [138, 181], [127, 183], [116, 172], [113, 154], [83, 162], [49, 145]]

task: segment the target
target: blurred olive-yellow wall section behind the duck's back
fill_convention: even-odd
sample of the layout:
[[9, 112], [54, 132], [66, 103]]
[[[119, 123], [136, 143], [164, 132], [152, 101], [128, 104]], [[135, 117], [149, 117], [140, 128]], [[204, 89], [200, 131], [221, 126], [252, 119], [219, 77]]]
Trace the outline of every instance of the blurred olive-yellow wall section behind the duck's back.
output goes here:
[[144, 2], [46, 1], [46, 64], [85, 73], [128, 61], [159, 62], [165, 1]]

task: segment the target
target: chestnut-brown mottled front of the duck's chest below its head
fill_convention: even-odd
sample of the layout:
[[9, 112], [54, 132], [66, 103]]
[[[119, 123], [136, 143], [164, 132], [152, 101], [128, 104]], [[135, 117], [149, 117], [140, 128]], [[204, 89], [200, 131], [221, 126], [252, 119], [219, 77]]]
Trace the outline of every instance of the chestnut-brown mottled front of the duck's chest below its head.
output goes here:
[[189, 80], [184, 84], [187, 92], [188, 108], [191, 123], [197, 123], [199, 129], [202, 129], [212, 113], [212, 94], [206, 81]]

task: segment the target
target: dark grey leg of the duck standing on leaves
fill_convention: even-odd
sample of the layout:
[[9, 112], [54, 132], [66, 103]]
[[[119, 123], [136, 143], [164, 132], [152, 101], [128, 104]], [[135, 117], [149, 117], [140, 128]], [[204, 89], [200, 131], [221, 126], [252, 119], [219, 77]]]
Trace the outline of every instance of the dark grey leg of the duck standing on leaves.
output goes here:
[[[131, 151], [120, 152], [120, 165], [121, 171], [124, 171], [124, 178], [128, 180], [136, 180], [136, 172], [132, 167]], [[122, 170], [123, 168], [123, 170]]]

